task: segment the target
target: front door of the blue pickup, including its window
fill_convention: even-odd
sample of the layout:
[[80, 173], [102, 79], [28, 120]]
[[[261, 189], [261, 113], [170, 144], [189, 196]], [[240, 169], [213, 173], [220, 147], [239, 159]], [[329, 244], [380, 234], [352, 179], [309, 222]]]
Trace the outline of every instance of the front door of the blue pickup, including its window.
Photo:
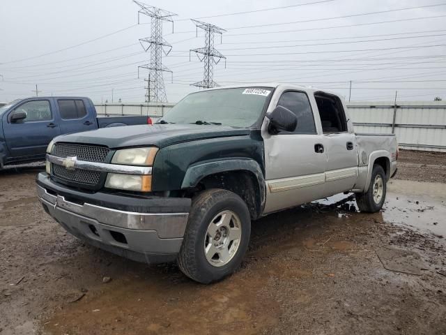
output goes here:
[[[26, 119], [11, 122], [10, 116], [15, 111], [26, 112]], [[52, 102], [48, 99], [25, 101], [5, 117], [3, 131], [6, 144], [15, 158], [44, 158], [49, 142], [60, 135], [58, 122], [52, 112]]]

